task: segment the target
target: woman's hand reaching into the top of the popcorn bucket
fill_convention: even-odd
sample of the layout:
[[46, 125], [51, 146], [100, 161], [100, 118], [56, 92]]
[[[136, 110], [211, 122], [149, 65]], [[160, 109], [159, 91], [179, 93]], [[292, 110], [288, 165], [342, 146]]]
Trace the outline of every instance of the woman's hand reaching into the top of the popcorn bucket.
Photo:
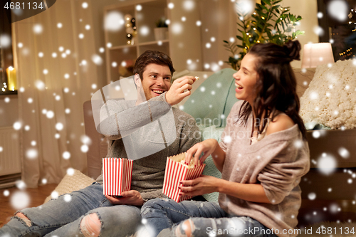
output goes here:
[[[187, 164], [190, 164], [190, 160], [193, 158], [194, 155], [195, 165], [198, 165], [199, 161], [203, 163], [206, 157], [209, 157], [209, 155], [214, 152], [217, 146], [218, 146], [218, 142], [216, 141], [216, 139], [206, 139], [203, 142], [194, 144], [192, 148], [187, 150], [187, 156], [185, 157], [185, 162]], [[204, 155], [199, 159], [201, 152], [204, 152]]]

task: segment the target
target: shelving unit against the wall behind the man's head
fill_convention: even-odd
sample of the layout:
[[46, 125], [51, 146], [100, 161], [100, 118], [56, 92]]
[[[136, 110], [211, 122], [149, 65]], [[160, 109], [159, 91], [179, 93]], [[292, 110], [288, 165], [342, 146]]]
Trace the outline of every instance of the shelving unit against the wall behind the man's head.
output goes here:
[[[140, 4], [141, 10], [136, 6]], [[136, 20], [137, 36], [135, 44], [127, 45], [126, 28], [120, 27], [117, 31], [105, 31], [105, 44], [111, 43], [112, 47], [107, 48], [107, 82], [119, 80], [122, 70], [120, 64], [124, 60], [135, 61], [147, 50], [156, 50], [169, 55], [169, 39], [163, 41], [155, 40], [156, 22], [161, 19], [169, 19], [167, 14], [167, 0], [131, 0], [108, 6], [104, 9], [104, 16], [115, 12], [120, 16], [130, 14]], [[167, 35], [167, 37], [169, 37]], [[117, 65], [116, 67], [112, 66]]]

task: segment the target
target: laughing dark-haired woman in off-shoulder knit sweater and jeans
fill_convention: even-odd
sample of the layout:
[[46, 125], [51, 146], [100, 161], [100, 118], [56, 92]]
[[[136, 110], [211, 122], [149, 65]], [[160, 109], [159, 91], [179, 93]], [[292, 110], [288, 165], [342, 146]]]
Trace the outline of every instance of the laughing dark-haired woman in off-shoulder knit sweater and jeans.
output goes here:
[[[219, 205], [154, 199], [142, 206], [142, 222], [159, 236], [297, 236], [300, 177], [309, 149], [290, 62], [300, 43], [258, 43], [234, 73], [236, 102], [218, 144], [207, 139], [187, 151], [186, 162], [212, 155], [221, 179], [182, 181], [184, 196], [219, 191]], [[201, 153], [204, 155], [200, 158]], [[194, 157], [193, 157], [194, 156]], [[185, 221], [184, 221], [185, 220]]]

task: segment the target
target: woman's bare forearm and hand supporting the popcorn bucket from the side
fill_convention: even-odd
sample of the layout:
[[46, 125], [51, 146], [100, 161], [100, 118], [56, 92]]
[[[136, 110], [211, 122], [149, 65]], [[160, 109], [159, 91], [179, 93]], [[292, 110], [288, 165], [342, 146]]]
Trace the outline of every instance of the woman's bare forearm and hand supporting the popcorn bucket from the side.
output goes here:
[[271, 204], [261, 184], [240, 184], [207, 175], [182, 181], [181, 184], [179, 189], [183, 196], [197, 196], [218, 191], [246, 201]]

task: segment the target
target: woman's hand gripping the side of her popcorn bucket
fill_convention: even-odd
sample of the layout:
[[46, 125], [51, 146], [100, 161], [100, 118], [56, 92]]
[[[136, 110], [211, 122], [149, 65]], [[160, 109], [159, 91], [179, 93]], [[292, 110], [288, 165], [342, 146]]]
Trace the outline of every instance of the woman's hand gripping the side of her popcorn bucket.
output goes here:
[[197, 179], [192, 180], [184, 180], [181, 181], [179, 186], [180, 193], [182, 196], [198, 196], [202, 194], [210, 194], [214, 191], [219, 191], [219, 185], [221, 183], [221, 179], [216, 177], [202, 175]]

